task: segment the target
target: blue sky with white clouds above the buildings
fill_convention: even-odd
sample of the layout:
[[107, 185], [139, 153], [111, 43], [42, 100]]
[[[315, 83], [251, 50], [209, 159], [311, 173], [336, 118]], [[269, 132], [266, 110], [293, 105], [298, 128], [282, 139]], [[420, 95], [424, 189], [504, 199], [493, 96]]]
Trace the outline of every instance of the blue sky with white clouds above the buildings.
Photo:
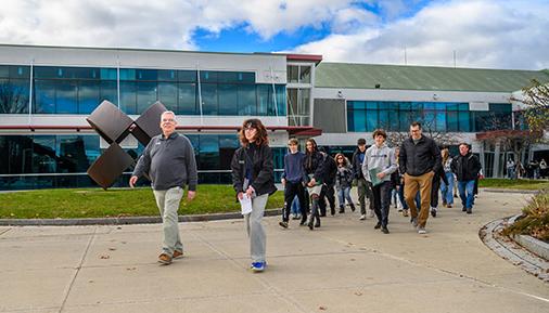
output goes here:
[[[549, 0], [2, 0], [0, 43], [549, 68]], [[1, 48], [0, 48], [1, 49]], [[406, 53], [405, 53], [406, 52]]]

